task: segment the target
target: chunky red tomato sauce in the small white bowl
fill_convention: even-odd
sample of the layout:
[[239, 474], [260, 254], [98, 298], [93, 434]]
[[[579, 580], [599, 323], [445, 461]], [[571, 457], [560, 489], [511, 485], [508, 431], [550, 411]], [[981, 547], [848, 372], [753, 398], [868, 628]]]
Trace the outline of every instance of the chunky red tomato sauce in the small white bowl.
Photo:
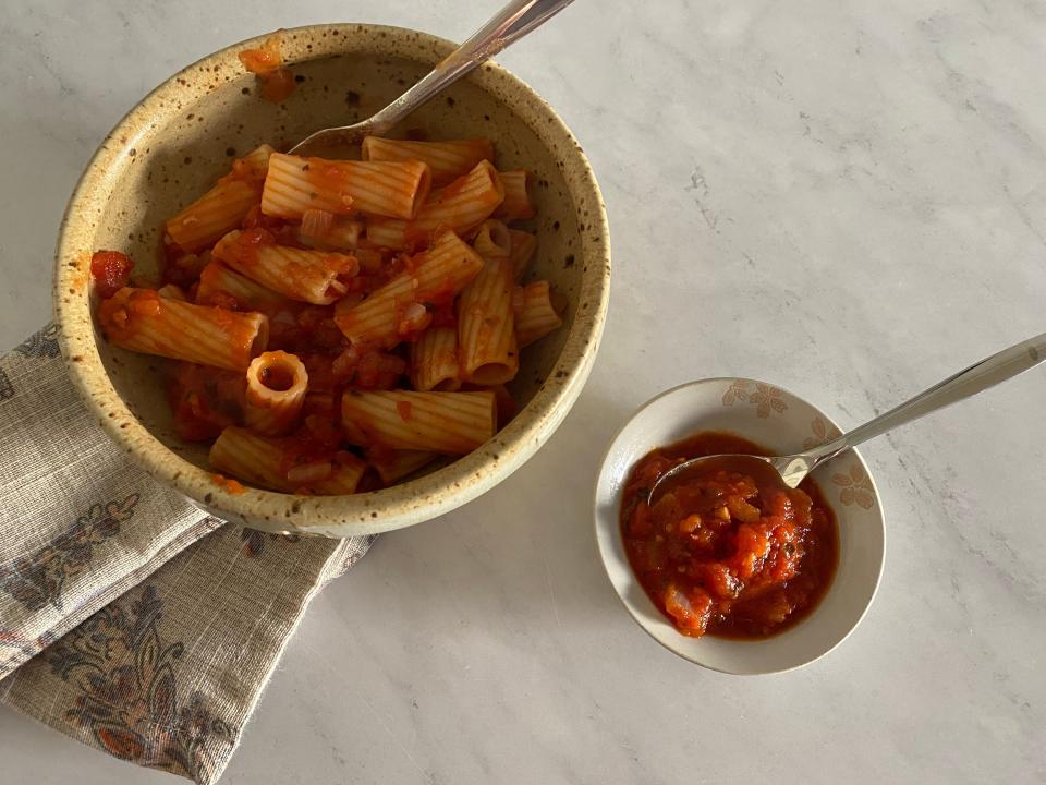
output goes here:
[[771, 467], [745, 459], [688, 472], [647, 504], [669, 469], [719, 454], [770, 455], [707, 432], [636, 463], [621, 508], [624, 550], [647, 595], [683, 635], [763, 638], [816, 607], [836, 572], [839, 533], [813, 480], [790, 488]]

